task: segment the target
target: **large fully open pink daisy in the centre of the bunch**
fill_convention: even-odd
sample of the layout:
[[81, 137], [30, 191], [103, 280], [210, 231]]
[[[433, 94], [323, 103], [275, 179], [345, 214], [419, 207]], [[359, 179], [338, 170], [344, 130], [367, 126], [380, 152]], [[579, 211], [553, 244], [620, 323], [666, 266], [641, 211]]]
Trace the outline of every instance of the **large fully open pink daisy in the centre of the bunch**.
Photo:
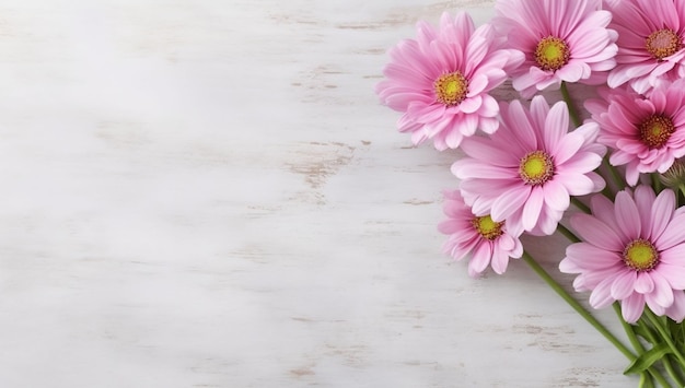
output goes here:
[[519, 101], [501, 106], [502, 122], [490, 139], [469, 138], [462, 144], [468, 155], [452, 165], [461, 190], [476, 215], [507, 220], [514, 233], [524, 230], [550, 235], [570, 196], [584, 196], [604, 187], [592, 171], [602, 163], [605, 148], [595, 142], [599, 127], [585, 124], [572, 132], [566, 104], [552, 109], [542, 96], [531, 110]]

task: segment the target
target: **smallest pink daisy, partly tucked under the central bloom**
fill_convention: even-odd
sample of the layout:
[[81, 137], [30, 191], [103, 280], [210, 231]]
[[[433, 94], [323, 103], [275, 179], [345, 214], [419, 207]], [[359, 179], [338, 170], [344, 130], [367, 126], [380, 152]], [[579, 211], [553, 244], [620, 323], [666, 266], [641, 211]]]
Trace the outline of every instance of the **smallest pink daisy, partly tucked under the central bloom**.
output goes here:
[[488, 264], [492, 266], [495, 272], [502, 274], [509, 258], [518, 259], [523, 255], [519, 235], [511, 234], [503, 221], [495, 222], [490, 215], [474, 215], [458, 191], [445, 191], [444, 199], [448, 220], [440, 223], [438, 228], [450, 238], [443, 249], [455, 260], [473, 254], [468, 261], [468, 274], [472, 278], [480, 275]]

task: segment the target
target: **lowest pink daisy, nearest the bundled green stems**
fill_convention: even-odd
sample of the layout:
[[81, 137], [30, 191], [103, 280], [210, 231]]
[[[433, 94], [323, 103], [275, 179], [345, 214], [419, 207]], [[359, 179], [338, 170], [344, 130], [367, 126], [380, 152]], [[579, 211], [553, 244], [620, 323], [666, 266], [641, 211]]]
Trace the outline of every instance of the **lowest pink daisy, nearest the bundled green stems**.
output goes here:
[[592, 291], [590, 305], [603, 308], [620, 301], [623, 317], [636, 322], [645, 304], [657, 315], [685, 318], [685, 208], [675, 209], [675, 195], [659, 196], [638, 186], [612, 203], [592, 198], [592, 214], [576, 214], [571, 225], [583, 239], [566, 249], [559, 263], [565, 273], [579, 273], [576, 291]]

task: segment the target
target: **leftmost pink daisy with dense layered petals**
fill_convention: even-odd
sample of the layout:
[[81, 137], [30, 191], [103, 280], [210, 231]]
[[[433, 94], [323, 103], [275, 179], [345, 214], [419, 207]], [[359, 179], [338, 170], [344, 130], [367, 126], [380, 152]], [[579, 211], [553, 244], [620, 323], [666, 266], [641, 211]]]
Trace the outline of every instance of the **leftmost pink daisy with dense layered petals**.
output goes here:
[[476, 128], [495, 132], [498, 105], [488, 92], [523, 55], [498, 49], [492, 27], [476, 30], [466, 13], [454, 20], [444, 13], [439, 31], [420, 22], [417, 35], [391, 49], [387, 79], [375, 89], [385, 105], [404, 113], [399, 131], [411, 132], [415, 144], [433, 139], [438, 150], [457, 148]]

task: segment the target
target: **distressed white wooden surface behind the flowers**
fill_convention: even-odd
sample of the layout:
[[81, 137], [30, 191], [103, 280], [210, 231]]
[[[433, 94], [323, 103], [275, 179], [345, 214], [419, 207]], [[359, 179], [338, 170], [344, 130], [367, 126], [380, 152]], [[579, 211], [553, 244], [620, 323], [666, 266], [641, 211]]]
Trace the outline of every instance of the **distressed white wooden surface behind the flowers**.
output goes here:
[[372, 93], [491, 5], [1, 1], [0, 387], [636, 385], [522, 262], [441, 254], [457, 155]]

